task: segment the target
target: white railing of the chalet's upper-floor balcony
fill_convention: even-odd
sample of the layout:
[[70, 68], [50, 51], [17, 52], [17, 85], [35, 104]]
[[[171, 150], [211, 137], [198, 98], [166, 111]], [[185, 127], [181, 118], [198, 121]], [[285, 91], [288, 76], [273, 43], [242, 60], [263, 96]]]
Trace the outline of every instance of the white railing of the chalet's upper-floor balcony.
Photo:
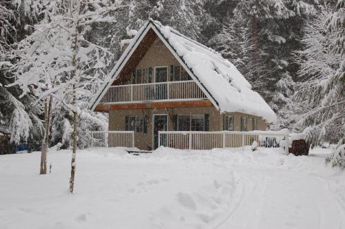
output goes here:
[[101, 103], [206, 99], [195, 81], [169, 81], [111, 86]]

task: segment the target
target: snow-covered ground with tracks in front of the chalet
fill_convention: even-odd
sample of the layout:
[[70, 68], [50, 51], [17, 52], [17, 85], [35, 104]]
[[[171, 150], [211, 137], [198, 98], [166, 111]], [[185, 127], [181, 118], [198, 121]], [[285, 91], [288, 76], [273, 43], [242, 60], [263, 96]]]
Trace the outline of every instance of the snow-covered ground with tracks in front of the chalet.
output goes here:
[[150, 155], [79, 150], [0, 156], [0, 228], [345, 228], [345, 172], [279, 150]]

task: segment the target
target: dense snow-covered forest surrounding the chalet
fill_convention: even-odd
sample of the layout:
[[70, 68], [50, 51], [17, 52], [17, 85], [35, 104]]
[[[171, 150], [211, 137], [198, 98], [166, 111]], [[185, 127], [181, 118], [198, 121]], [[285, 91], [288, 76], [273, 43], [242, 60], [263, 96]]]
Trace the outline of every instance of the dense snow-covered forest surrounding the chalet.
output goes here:
[[234, 63], [277, 113], [268, 129], [345, 143], [344, 0], [80, 0], [76, 25], [72, 3], [0, 2], [0, 127], [13, 143], [71, 148], [76, 117], [79, 148], [107, 130], [88, 103], [149, 18]]

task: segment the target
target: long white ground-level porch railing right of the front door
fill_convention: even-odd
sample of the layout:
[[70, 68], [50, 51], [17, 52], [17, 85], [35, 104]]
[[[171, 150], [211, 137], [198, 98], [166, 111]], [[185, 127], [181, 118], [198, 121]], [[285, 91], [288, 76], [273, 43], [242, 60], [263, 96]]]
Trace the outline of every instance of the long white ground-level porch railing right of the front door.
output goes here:
[[259, 147], [284, 147], [288, 153], [288, 133], [278, 131], [159, 131], [158, 146], [177, 149], [210, 150], [213, 148], [244, 148], [257, 141]]

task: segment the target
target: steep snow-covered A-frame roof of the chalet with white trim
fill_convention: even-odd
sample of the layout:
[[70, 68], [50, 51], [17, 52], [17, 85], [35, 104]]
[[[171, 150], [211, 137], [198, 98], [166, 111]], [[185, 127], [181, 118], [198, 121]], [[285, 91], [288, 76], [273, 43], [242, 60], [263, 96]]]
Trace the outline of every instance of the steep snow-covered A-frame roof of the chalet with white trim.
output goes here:
[[177, 30], [152, 20], [140, 28], [121, 55], [110, 72], [108, 81], [101, 86], [99, 92], [92, 99], [91, 110], [95, 110], [103, 95], [112, 82], [119, 77], [122, 68], [150, 29], [163, 41], [220, 112], [243, 112], [263, 117], [268, 122], [277, 119], [275, 112], [257, 92], [251, 90], [250, 83], [230, 61], [221, 57], [221, 54], [215, 50], [184, 36]]

